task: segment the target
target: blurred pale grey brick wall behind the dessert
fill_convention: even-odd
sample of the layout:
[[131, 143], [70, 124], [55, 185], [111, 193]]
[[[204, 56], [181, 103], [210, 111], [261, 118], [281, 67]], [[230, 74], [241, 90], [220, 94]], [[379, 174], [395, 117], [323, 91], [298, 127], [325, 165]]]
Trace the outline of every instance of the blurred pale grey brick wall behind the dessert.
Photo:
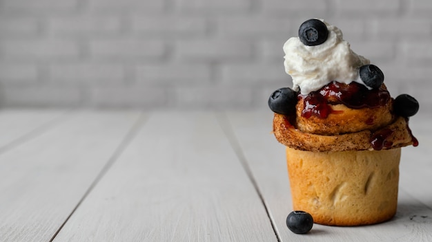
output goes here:
[[430, 0], [0, 0], [1, 107], [266, 109], [282, 45], [317, 17], [432, 99]]

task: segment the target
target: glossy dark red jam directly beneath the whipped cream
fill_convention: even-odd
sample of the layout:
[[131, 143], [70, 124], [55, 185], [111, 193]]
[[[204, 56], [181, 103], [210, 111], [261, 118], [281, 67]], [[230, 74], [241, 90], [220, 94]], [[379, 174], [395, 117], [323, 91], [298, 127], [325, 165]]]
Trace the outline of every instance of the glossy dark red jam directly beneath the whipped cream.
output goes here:
[[335, 113], [330, 104], [342, 103], [351, 109], [373, 108], [384, 106], [390, 98], [385, 87], [369, 90], [360, 83], [346, 85], [335, 81], [308, 95], [298, 95], [298, 99], [304, 102], [304, 118], [310, 118], [311, 115], [327, 118], [330, 113]]

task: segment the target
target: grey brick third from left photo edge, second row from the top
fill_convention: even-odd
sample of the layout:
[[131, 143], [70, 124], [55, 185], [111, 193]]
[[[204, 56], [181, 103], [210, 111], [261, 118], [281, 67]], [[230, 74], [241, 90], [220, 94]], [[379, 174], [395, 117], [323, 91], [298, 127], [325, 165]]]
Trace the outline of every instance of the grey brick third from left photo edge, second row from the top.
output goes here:
[[132, 17], [133, 32], [170, 36], [203, 35], [207, 31], [206, 20], [200, 17], [162, 16]]

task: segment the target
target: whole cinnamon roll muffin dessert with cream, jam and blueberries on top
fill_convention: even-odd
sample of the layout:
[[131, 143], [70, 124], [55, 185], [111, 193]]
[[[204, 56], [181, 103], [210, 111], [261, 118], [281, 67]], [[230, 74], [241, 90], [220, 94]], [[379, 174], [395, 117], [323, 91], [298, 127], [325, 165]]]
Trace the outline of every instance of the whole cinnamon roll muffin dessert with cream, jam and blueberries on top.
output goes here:
[[324, 225], [366, 225], [397, 208], [400, 152], [418, 146], [415, 98], [392, 98], [384, 74], [320, 19], [284, 44], [293, 87], [268, 99], [273, 133], [286, 146], [293, 209]]

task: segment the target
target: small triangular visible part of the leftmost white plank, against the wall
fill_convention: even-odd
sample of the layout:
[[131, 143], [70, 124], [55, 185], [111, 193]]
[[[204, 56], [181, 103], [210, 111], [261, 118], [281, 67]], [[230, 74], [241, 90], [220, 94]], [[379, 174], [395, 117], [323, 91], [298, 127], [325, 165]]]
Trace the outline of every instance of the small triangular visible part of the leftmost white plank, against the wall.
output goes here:
[[65, 116], [64, 110], [1, 109], [0, 153], [37, 136]]

